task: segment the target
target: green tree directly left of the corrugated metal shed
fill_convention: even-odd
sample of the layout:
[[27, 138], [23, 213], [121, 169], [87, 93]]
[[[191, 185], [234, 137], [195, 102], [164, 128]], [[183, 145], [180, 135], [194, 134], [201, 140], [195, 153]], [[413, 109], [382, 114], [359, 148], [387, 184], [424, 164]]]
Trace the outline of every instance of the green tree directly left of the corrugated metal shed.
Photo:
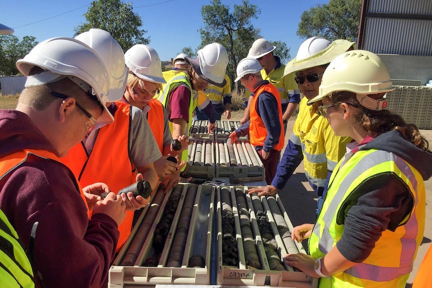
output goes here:
[[303, 12], [297, 35], [357, 41], [362, 0], [330, 0]]

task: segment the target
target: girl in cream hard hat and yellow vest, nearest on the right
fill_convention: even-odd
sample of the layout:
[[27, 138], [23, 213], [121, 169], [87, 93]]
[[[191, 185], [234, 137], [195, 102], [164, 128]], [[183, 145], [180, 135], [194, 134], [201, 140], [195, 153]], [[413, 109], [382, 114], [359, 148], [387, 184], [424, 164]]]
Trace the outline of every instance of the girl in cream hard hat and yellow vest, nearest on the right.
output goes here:
[[413, 124], [385, 110], [385, 64], [368, 51], [336, 57], [322, 76], [319, 114], [354, 139], [330, 178], [314, 224], [294, 228], [309, 253], [285, 262], [320, 277], [319, 287], [405, 287], [423, 238], [424, 180], [432, 153]]

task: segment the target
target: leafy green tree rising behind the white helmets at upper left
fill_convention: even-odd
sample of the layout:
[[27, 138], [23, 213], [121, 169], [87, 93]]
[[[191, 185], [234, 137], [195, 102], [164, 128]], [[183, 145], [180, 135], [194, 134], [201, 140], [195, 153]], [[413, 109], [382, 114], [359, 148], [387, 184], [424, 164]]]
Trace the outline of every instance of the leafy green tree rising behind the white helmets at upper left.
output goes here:
[[135, 44], [148, 44], [150, 38], [145, 38], [147, 31], [139, 29], [142, 26], [141, 17], [133, 13], [132, 3], [121, 0], [96, 0], [84, 14], [86, 23], [74, 28], [75, 36], [99, 28], [108, 31], [117, 40], [124, 51]]

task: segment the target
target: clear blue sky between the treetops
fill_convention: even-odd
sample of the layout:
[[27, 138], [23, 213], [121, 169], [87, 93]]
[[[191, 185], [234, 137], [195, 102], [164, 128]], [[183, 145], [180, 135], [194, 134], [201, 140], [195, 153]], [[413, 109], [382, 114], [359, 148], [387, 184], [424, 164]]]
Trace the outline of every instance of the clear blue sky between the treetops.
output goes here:
[[[128, 3], [129, 1], [123, 0], [123, 2]], [[252, 24], [261, 29], [261, 35], [267, 40], [285, 42], [291, 48], [290, 54], [294, 58], [300, 44], [304, 41], [296, 35], [300, 16], [317, 4], [327, 4], [328, 0], [249, 0], [249, 2], [261, 9], [258, 19], [253, 19]], [[34, 36], [37, 41], [41, 42], [52, 37], [73, 37], [74, 27], [85, 22], [83, 14], [87, 12], [88, 6], [86, 5], [90, 3], [90, 0], [67, 2], [63, 0], [2, 0], [0, 23], [14, 28], [15, 35], [20, 39], [24, 36]], [[157, 51], [162, 61], [175, 57], [183, 47], [190, 46], [195, 49], [199, 46], [201, 39], [197, 30], [204, 27], [201, 6], [210, 3], [210, 0], [132, 2], [133, 11], [142, 18], [142, 29], [147, 30], [145, 37], [150, 37], [149, 45]], [[222, 4], [230, 5], [233, 8], [234, 4], [241, 5], [242, 1], [222, 0]], [[69, 11], [72, 12], [67, 13]], [[47, 18], [51, 19], [41, 21]]]

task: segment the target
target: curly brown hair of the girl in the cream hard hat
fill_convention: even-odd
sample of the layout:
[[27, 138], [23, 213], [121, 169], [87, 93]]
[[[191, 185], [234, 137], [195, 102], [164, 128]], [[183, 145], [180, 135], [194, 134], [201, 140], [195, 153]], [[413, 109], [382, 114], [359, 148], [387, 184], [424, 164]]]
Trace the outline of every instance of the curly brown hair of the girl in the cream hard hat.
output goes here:
[[[375, 98], [379, 96], [381, 98], [382, 94], [368, 95]], [[349, 91], [334, 92], [329, 96], [330, 101], [352, 103], [358, 107], [358, 112], [354, 115], [354, 120], [372, 137], [376, 137], [380, 134], [391, 130], [397, 130], [402, 135], [402, 137], [420, 148], [423, 151], [429, 151], [429, 143], [420, 134], [418, 128], [415, 124], [406, 123], [403, 118], [397, 114], [393, 114], [388, 110], [374, 111], [362, 106], [356, 97], [356, 94]]]

